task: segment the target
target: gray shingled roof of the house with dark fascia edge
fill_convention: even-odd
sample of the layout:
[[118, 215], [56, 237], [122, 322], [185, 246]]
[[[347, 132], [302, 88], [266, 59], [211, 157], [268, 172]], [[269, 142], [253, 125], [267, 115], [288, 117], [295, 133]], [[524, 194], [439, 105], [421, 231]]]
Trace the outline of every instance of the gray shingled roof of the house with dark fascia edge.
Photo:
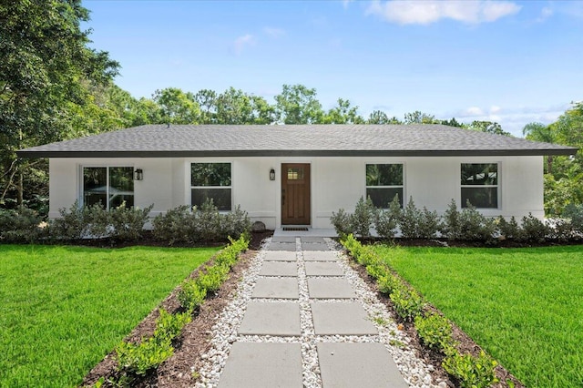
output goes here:
[[21, 149], [24, 158], [570, 155], [577, 148], [442, 125], [148, 125]]

